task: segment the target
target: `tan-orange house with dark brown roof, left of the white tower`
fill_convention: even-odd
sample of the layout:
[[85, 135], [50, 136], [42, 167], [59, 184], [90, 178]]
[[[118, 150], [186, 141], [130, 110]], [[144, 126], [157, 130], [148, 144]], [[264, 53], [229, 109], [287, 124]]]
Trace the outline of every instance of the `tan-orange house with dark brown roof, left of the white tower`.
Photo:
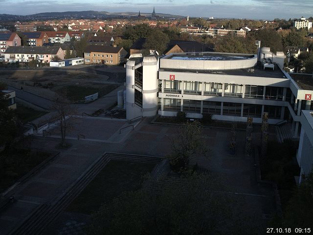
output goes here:
[[85, 64], [119, 65], [124, 63], [127, 51], [116, 46], [88, 46], [85, 50]]

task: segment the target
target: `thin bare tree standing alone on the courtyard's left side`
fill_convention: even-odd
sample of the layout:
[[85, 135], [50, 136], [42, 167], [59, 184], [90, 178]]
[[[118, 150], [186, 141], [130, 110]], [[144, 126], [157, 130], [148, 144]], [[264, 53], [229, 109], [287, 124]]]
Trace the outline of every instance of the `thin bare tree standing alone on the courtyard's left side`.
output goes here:
[[68, 119], [75, 114], [75, 108], [68, 101], [66, 93], [60, 93], [56, 94], [53, 98], [51, 109], [55, 112], [54, 118], [58, 121], [61, 133], [61, 145], [62, 147], [66, 147], [67, 144], [65, 137], [67, 135], [67, 131], [72, 127]]

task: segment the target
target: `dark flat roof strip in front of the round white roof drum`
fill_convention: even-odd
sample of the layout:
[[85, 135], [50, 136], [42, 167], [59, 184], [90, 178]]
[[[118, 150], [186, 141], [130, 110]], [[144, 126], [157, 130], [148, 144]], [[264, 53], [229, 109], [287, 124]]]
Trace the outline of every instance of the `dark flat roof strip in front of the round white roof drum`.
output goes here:
[[224, 75], [236, 75], [236, 76], [251, 76], [251, 77], [269, 77], [269, 78], [286, 78], [285, 74], [280, 70], [272, 69], [259, 69], [258, 66], [249, 69], [237, 69], [237, 70], [180, 70], [180, 69], [160, 69], [160, 71], [176, 71], [176, 72], [194, 72], [194, 73], [210, 73], [210, 74], [224, 74]]

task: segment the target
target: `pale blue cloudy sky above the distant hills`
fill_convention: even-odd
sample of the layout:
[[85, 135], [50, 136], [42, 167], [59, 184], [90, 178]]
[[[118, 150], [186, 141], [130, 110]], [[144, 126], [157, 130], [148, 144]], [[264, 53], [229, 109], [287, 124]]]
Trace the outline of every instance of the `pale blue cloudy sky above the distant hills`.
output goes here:
[[191, 17], [236, 19], [309, 18], [313, 0], [0, 0], [0, 14], [108, 11], [168, 13]]

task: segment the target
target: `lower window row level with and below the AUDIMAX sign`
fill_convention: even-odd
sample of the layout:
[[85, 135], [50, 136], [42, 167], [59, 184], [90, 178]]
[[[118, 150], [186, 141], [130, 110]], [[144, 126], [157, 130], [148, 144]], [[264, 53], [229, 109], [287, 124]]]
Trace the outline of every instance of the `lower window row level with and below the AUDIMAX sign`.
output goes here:
[[[180, 111], [181, 99], [163, 99], [164, 111]], [[202, 114], [221, 115], [222, 102], [203, 101]], [[268, 112], [269, 118], [280, 119], [281, 106], [264, 105], [264, 112]], [[241, 116], [242, 104], [223, 102], [223, 115], [225, 116]], [[201, 101], [184, 99], [182, 111], [187, 113], [201, 113]], [[243, 117], [261, 118], [262, 105], [244, 104]]]

